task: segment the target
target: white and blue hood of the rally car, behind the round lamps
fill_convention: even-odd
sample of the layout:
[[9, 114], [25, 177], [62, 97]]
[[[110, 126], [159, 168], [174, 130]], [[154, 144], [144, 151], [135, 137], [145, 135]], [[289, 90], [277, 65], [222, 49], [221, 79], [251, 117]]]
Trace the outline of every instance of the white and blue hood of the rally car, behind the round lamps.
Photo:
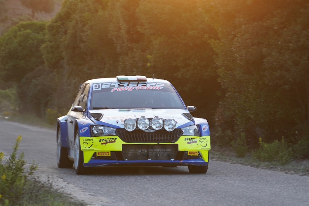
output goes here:
[[176, 128], [194, 124], [189, 111], [182, 109], [105, 109], [90, 110], [89, 113], [95, 124], [110, 124], [120, 128], [124, 128], [125, 119], [138, 119], [142, 116], [149, 119], [156, 116], [162, 119], [174, 119]]

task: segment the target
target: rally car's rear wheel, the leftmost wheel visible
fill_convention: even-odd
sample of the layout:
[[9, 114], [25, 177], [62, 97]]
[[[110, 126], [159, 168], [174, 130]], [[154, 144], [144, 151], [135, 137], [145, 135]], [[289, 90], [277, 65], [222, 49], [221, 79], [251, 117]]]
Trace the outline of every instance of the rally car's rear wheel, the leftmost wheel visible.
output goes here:
[[73, 162], [68, 158], [68, 149], [61, 146], [61, 131], [57, 133], [57, 166], [59, 168], [72, 168]]

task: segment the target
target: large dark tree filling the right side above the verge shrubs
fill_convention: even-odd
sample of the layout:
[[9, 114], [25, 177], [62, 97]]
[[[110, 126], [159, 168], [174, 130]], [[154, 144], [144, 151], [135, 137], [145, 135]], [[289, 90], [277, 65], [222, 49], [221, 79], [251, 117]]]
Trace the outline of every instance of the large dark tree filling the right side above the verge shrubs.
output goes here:
[[[309, 106], [309, 27], [307, 1], [225, 1], [212, 4], [210, 23], [219, 39], [219, 81], [225, 92], [220, 127], [258, 138], [294, 142], [306, 127]], [[220, 118], [221, 115], [221, 118]]]

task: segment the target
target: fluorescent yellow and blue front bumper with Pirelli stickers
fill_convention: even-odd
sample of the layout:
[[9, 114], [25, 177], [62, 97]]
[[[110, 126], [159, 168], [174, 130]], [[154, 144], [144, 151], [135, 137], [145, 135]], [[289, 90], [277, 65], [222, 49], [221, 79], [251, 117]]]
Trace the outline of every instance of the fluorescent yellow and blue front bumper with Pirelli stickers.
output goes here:
[[85, 167], [207, 166], [210, 136], [180, 136], [175, 143], [128, 143], [117, 136], [80, 137]]

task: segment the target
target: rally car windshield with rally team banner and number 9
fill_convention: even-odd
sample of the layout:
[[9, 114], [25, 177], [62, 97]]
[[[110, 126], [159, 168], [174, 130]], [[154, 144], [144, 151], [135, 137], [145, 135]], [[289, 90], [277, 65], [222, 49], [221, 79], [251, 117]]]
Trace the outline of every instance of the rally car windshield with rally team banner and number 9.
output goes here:
[[169, 83], [128, 83], [93, 85], [90, 109], [186, 109]]

